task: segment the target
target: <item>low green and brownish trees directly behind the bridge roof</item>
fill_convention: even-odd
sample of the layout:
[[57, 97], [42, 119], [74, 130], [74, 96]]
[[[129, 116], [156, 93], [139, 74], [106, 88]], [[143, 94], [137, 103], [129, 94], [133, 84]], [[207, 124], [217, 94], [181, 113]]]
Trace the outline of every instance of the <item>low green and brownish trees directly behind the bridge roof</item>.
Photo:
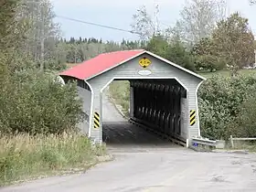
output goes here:
[[101, 39], [62, 39], [59, 44], [66, 49], [66, 62], [77, 63], [91, 59], [103, 52], [145, 48], [193, 71], [230, 69], [234, 74], [254, 63], [255, 40], [249, 20], [234, 13], [219, 20], [207, 37], [198, 39], [190, 48], [180, 38], [168, 39], [162, 34], [153, 34], [146, 40], [121, 43]]

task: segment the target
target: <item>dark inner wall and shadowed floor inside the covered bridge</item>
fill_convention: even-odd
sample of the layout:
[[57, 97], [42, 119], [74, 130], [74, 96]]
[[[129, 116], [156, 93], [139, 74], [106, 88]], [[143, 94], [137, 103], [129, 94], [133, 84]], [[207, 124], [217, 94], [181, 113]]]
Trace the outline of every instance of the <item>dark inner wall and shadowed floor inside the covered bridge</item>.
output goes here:
[[[180, 136], [181, 99], [187, 98], [186, 89], [175, 79], [129, 81], [130, 91], [133, 91], [131, 100], [133, 104], [130, 101], [130, 110], [132, 111], [130, 123], [127, 124], [127, 121], [126, 123], [103, 123], [103, 142], [144, 144], [151, 140], [153, 143], [161, 143], [158, 139], [145, 138], [141, 129], [134, 128], [133, 123], [142, 124], [149, 130], [154, 130], [154, 133], [173, 137]], [[119, 137], [119, 139], [113, 137]], [[132, 141], [128, 137], [136, 138], [136, 141]]]

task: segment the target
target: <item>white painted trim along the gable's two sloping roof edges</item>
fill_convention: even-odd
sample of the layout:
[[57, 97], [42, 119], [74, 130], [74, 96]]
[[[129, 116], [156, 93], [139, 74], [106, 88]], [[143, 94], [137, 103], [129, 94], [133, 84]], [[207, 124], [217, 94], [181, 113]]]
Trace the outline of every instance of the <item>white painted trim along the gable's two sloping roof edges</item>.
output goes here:
[[177, 68], [177, 69], [181, 69], [181, 70], [187, 72], [188, 74], [197, 77], [197, 78], [200, 79], [200, 80], [206, 80], [206, 78], [204, 78], [204, 77], [198, 75], [197, 73], [195, 73], [195, 72], [193, 72], [193, 71], [191, 71], [191, 70], [185, 69], [185, 68], [183, 68], [183, 67], [181, 67], [181, 66], [179, 66], [179, 65], [177, 65], [177, 64], [175, 64], [175, 63], [173, 63], [173, 62], [171, 62], [171, 61], [169, 61], [169, 60], [167, 60], [167, 59], [164, 59], [164, 58], [162, 58], [162, 57], [160, 57], [160, 56], [157, 56], [157, 55], [155, 55], [154, 53], [149, 52], [149, 51], [146, 51], [146, 50], [142, 51], [141, 53], [139, 53], [139, 54], [137, 54], [137, 55], [135, 55], [135, 56], [133, 56], [133, 57], [131, 57], [131, 58], [129, 58], [129, 59], [125, 59], [125, 60], [123, 60], [121, 63], [119, 63], [119, 64], [113, 66], [112, 68], [105, 69], [105, 70], [101, 71], [100, 73], [98, 73], [98, 74], [96, 74], [96, 75], [93, 75], [93, 76], [91, 76], [90, 78], [87, 78], [86, 80], [91, 80], [92, 78], [95, 78], [95, 77], [101, 75], [101, 74], [104, 73], [104, 72], [107, 72], [107, 71], [109, 71], [109, 70], [111, 70], [111, 69], [114, 69], [114, 68], [116, 68], [116, 67], [122, 65], [122, 64], [125, 63], [125, 62], [128, 62], [128, 61], [130, 61], [130, 60], [133, 60], [133, 59], [135, 59], [135, 58], [137, 58], [137, 57], [143, 55], [144, 53], [146, 53], [146, 54], [148, 54], [148, 55], [150, 55], [150, 56], [152, 56], [152, 57], [155, 57], [156, 59], [160, 59], [160, 60], [164, 61], [165, 63], [174, 66], [174, 67]]

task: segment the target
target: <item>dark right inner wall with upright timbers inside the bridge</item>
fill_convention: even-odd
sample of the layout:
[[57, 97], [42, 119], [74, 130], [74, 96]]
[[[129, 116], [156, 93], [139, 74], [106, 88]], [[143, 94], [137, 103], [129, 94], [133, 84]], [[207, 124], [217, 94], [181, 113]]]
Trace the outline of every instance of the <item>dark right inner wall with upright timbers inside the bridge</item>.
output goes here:
[[133, 80], [133, 118], [167, 135], [181, 133], [181, 98], [187, 91], [176, 80]]

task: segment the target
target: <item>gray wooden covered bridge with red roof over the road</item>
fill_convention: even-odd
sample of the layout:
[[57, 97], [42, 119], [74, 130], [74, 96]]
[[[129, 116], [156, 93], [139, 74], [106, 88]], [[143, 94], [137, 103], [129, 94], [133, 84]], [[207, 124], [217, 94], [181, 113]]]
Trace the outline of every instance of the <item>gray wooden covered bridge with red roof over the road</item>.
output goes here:
[[152, 52], [103, 53], [67, 69], [60, 77], [78, 81], [87, 120], [82, 133], [102, 142], [102, 91], [112, 80], [130, 81], [130, 122], [184, 143], [200, 135], [197, 90], [205, 78]]

